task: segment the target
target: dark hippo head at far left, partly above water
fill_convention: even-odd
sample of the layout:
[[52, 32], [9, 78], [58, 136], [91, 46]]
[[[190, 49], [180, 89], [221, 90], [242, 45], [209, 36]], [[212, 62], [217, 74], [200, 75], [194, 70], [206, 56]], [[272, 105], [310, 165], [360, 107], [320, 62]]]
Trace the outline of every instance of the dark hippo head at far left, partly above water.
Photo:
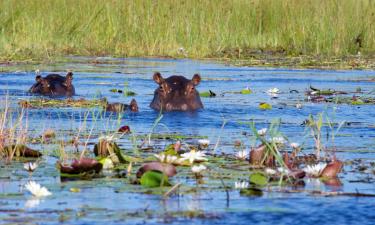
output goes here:
[[46, 77], [37, 75], [35, 81], [29, 90], [31, 93], [67, 97], [75, 95], [72, 72], [68, 72], [65, 77], [59, 74], [49, 74]]

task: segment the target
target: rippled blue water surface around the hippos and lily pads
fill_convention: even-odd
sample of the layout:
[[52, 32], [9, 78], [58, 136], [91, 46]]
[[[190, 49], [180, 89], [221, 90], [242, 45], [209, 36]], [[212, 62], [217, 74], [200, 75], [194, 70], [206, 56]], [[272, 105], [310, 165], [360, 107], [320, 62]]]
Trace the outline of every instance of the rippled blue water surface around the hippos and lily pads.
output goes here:
[[[213, 143], [220, 137], [215, 150], [233, 154], [233, 143], [240, 140], [249, 148], [252, 144], [250, 120], [256, 122], [258, 129], [268, 127], [272, 120], [281, 119], [280, 130], [290, 141], [303, 143], [305, 151], [311, 151], [313, 142], [306, 137], [306, 127], [302, 126], [309, 114], [325, 112], [330, 120], [340, 123], [351, 122], [344, 126], [335, 137], [334, 145], [338, 149], [339, 159], [360, 163], [345, 166], [339, 176], [342, 186], [327, 186], [318, 181], [305, 180], [307, 190], [361, 192], [375, 194], [375, 111], [373, 105], [335, 105], [332, 103], [304, 102], [304, 92], [309, 86], [320, 89], [335, 89], [355, 92], [358, 87], [367, 96], [374, 97], [375, 85], [366, 79], [374, 78], [373, 71], [327, 71], [327, 70], [289, 70], [274, 68], [232, 67], [210, 61], [174, 60], [174, 59], [111, 59], [101, 58], [102, 63], [90, 64], [87, 58], [73, 58], [72, 63], [58, 65], [40, 65], [43, 75], [50, 71], [73, 69], [75, 98], [106, 97], [109, 102], [129, 103], [131, 98], [112, 93], [113, 88], [128, 89], [137, 93], [140, 112], [126, 113], [121, 119], [116, 115], [99, 114], [97, 110], [76, 108], [30, 109], [27, 112], [28, 130], [36, 137], [48, 128], [54, 129], [57, 136], [68, 140], [80, 128], [92, 135], [107, 134], [120, 125], [129, 125], [137, 134], [148, 134], [158, 116], [158, 112], [149, 108], [156, 84], [152, 80], [155, 71], [167, 77], [182, 74], [192, 77], [200, 73], [203, 80], [199, 91], [214, 91], [216, 98], [202, 98], [204, 110], [195, 113], [173, 112], [163, 116], [156, 133], [179, 133], [182, 135], [207, 136]], [[20, 99], [36, 98], [26, 93], [34, 83], [35, 74], [31, 67], [20, 67], [17, 72], [0, 74], [0, 95], [9, 96], [11, 108], [16, 109]], [[16, 70], [14, 70], [16, 71]], [[24, 72], [28, 71], [28, 72]], [[253, 94], [241, 95], [228, 93], [249, 87]], [[277, 87], [281, 94], [271, 99], [266, 91]], [[298, 93], [290, 93], [297, 90]], [[224, 93], [224, 94], [223, 94]], [[222, 95], [223, 94], [223, 95]], [[350, 94], [351, 96], [352, 94]], [[269, 111], [259, 110], [260, 102], [273, 105]], [[297, 109], [296, 103], [303, 108]], [[1, 107], [3, 108], [3, 106]], [[85, 113], [90, 111], [85, 119]], [[93, 113], [95, 115], [93, 116]], [[226, 121], [224, 129], [221, 129]], [[86, 123], [85, 123], [86, 122]], [[324, 128], [326, 129], [326, 128]], [[324, 131], [326, 132], [326, 130]], [[73, 134], [72, 134], [73, 133]], [[140, 140], [139, 140], [140, 141]], [[326, 143], [326, 140], [324, 140]], [[173, 140], [157, 142], [157, 151], [161, 151]], [[190, 140], [194, 142], [194, 140]], [[131, 149], [131, 141], [124, 137], [119, 140], [124, 149]], [[139, 143], [138, 143], [139, 144]], [[332, 147], [332, 144], [327, 144]], [[40, 146], [44, 152], [51, 153], [59, 148], [56, 144]], [[92, 149], [92, 141], [89, 141]], [[74, 152], [72, 147], [67, 151]], [[129, 150], [130, 151], [130, 150]], [[131, 152], [131, 151], [130, 151]], [[145, 153], [146, 154], [146, 153]], [[147, 153], [151, 154], [151, 153]], [[262, 197], [245, 197], [238, 190], [231, 189], [230, 200], [216, 184], [202, 185], [193, 193], [173, 196], [163, 200], [160, 195], [135, 192], [123, 179], [102, 178], [94, 181], [61, 182], [55, 168], [57, 161], [53, 154], [43, 158], [40, 168], [33, 174], [33, 180], [47, 186], [53, 196], [35, 200], [25, 190], [23, 184], [29, 174], [22, 169], [22, 162], [11, 165], [1, 163], [0, 172], [0, 223], [41, 223], [57, 224], [95, 224], [95, 223], [212, 223], [247, 224], [255, 223], [306, 223], [306, 224], [372, 224], [375, 209], [373, 198], [355, 198], [346, 196], [321, 197], [302, 193], [265, 192]], [[358, 166], [368, 166], [359, 172]], [[186, 170], [184, 170], [186, 173]], [[234, 179], [246, 180], [247, 176]], [[195, 187], [195, 180], [190, 175], [180, 176], [172, 182], [182, 182]], [[206, 179], [209, 183], [209, 179]], [[233, 180], [226, 180], [233, 186]], [[214, 185], [215, 186], [215, 185]], [[80, 188], [80, 193], [70, 191], [71, 187]], [[282, 188], [283, 189], [283, 188]], [[196, 214], [187, 212], [194, 210]]]

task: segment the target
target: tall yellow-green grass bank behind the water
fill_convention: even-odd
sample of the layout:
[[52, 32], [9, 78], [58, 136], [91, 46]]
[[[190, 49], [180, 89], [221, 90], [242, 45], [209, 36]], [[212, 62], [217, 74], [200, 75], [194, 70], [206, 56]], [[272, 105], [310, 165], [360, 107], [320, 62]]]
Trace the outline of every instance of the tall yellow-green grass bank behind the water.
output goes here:
[[2, 0], [0, 58], [375, 52], [370, 0]]

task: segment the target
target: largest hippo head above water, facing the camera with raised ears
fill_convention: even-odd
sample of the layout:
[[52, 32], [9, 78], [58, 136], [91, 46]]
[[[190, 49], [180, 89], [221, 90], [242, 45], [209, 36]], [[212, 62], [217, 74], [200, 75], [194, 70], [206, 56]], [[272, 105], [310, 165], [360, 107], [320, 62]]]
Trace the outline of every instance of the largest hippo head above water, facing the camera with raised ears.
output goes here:
[[159, 87], [154, 92], [151, 108], [158, 111], [194, 111], [203, 108], [199, 92], [195, 89], [201, 81], [199, 74], [195, 74], [191, 80], [184, 76], [164, 79], [156, 72], [153, 79]]

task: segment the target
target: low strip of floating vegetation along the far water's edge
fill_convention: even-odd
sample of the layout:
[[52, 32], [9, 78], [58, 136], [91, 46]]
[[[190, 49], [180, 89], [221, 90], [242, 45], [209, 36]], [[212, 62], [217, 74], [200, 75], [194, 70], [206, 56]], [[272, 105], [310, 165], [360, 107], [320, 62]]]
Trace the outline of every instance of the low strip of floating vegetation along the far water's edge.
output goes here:
[[[320, 69], [320, 70], [375, 70], [375, 56], [347, 55], [347, 56], [287, 56], [274, 53], [255, 53], [241, 57], [172, 57], [172, 56], [95, 56], [95, 55], [66, 55], [49, 59], [30, 58], [24, 60], [0, 60], [1, 71], [10, 72], [12, 67], [53, 65], [61, 63], [88, 63], [88, 64], [116, 64], [121, 59], [171, 59], [215, 61], [238, 67], [273, 67], [289, 69]], [[8, 68], [8, 69], [7, 69]]]

